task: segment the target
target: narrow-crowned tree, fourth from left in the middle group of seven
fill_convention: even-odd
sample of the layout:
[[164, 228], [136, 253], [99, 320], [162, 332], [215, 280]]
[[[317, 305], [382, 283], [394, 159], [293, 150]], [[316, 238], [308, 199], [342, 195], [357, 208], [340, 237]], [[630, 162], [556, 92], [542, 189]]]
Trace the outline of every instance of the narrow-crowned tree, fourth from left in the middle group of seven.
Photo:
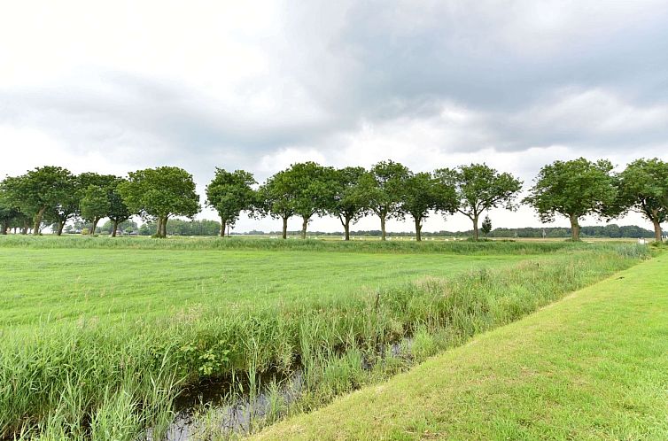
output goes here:
[[350, 240], [350, 223], [359, 221], [367, 214], [365, 198], [360, 190], [361, 177], [366, 174], [361, 166], [348, 166], [334, 171], [333, 198], [328, 213], [338, 217]]

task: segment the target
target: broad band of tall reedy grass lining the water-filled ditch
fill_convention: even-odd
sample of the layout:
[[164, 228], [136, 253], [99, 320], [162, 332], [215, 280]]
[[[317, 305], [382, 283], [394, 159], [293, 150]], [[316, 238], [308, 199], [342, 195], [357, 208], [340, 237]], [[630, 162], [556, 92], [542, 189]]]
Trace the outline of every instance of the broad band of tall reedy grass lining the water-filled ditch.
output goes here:
[[[252, 382], [258, 375], [298, 367], [306, 390], [299, 406], [307, 410], [371, 381], [373, 370], [365, 374], [362, 366], [381, 366], [384, 361], [373, 360], [377, 353], [406, 337], [415, 337], [411, 356], [422, 360], [647, 253], [645, 247], [601, 246], [358, 297], [212, 306], [150, 324], [5, 330], [0, 437], [130, 439], [151, 426], [159, 438], [184, 385], [247, 373], [257, 391]], [[383, 365], [383, 372], [395, 368]]]

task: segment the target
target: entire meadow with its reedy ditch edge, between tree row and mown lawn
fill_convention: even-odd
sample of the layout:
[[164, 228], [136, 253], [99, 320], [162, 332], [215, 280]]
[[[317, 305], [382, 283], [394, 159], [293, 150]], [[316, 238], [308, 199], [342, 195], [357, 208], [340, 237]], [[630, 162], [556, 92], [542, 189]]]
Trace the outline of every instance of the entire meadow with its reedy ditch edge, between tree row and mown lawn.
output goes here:
[[[0, 436], [159, 439], [192, 386], [255, 393], [299, 371], [299, 399], [255, 431], [648, 257], [605, 243], [0, 238]], [[200, 414], [202, 437], [230, 435]]]

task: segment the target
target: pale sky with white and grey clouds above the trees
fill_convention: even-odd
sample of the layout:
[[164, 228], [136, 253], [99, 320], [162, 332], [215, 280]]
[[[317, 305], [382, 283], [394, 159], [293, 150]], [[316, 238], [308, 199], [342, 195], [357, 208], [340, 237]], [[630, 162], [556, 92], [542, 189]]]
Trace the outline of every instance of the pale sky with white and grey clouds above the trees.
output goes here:
[[[301, 160], [485, 161], [528, 188], [579, 156], [668, 159], [668, 1], [25, 1], [0, 14], [2, 176], [173, 165], [202, 194], [214, 166], [261, 182]], [[528, 208], [491, 217], [540, 225]], [[237, 224], [250, 228], [280, 225]], [[441, 228], [470, 225], [424, 227]]]

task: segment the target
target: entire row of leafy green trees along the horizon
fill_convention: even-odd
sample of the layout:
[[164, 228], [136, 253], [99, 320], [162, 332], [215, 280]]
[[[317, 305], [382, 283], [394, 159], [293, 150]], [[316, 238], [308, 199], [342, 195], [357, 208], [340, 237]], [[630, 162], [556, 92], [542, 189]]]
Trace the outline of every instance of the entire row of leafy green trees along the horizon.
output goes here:
[[[619, 174], [612, 168], [603, 159], [555, 161], [540, 169], [522, 202], [532, 205], [541, 221], [553, 221], [556, 215], [568, 218], [573, 240], [579, 239], [579, 221], [586, 215], [612, 219], [633, 210], [652, 222], [660, 241], [660, 224], [668, 216], [668, 164], [638, 159]], [[341, 222], [347, 240], [351, 224], [372, 214], [380, 221], [383, 239], [387, 220], [410, 218], [420, 240], [423, 222], [431, 213], [462, 213], [472, 222], [478, 239], [480, 216], [497, 207], [515, 210], [522, 183], [485, 164], [413, 173], [387, 160], [369, 170], [293, 164], [258, 188], [252, 174], [244, 170], [216, 168], [214, 180], [206, 186], [206, 205], [221, 218], [221, 236], [246, 212], [283, 221], [284, 238], [291, 217], [301, 218], [305, 237], [315, 215], [332, 215]], [[155, 222], [155, 236], [165, 237], [170, 217], [192, 218], [199, 211], [192, 175], [172, 166], [139, 170], [127, 178], [74, 175], [62, 167], [44, 166], [0, 182], [3, 233], [21, 222], [27, 232], [32, 221], [33, 233], [38, 234], [46, 221], [55, 224], [60, 234], [66, 222], [76, 218], [91, 222], [93, 232], [98, 221], [108, 218], [115, 236], [118, 225], [137, 214]]]

